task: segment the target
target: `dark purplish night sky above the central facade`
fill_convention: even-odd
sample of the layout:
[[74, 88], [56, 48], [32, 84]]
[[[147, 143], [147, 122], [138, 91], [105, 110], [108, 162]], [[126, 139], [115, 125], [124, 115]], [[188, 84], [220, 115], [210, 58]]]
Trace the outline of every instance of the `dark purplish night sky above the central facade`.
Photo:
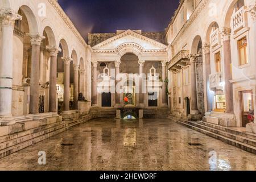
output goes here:
[[88, 33], [164, 31], [179, 0], [59, 0], [87, 40]]

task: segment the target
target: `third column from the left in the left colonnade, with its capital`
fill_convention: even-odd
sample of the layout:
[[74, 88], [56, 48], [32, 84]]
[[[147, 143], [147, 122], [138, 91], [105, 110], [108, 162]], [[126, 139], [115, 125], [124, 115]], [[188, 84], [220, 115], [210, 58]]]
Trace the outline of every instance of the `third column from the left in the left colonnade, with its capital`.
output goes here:
[[50, 75], [49, 75], [49, 112], [57, 112], [57, 55], [61, 49], [57, 46], [47, 46], [47, 50], [51, 54]]

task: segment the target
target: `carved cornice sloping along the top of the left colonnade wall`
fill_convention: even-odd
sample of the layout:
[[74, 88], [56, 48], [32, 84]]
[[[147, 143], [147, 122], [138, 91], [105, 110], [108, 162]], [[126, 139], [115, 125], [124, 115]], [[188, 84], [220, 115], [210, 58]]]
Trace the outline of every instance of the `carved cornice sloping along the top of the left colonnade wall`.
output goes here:
[[56, 0], [48, 0], [49, 3], [54, 7], [54, 9], [57, 11], [57, 13], [60, 15], [60, 17], [64, 20], [64, 22], [67, 24], [67, 26], [71, 29], [73, 34], [79, 39], [79, 41], [82, 43], [83, 46], [87, 46], [84, 38], [82, 38], [80, 32], [77, 30], [75, 25], [72, 23], [71, 19], [67, 16], [67, 14], [64, 12], [64, 10], [61, 8], [59, 3]]

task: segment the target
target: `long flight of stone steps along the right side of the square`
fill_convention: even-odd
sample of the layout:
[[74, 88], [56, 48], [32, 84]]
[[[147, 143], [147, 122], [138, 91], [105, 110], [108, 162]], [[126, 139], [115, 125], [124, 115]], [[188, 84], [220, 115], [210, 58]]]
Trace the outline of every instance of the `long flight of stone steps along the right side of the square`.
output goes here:
[[175, 115], [169, 114], [168, 119], [175, 121], [190, 129], [199, 131], [209, 137], [216, 138], [222, 142], [228, 143], [232, 146], [241, 148], [247, 152], [256, 154], [256, 135], [251, 133], [245, 133], [232, 129], [232, 127], [224, 127], [214, 125], [213, 123], [207, 123], [203, 121], [188, 121], [185, 119], [177, 118]]

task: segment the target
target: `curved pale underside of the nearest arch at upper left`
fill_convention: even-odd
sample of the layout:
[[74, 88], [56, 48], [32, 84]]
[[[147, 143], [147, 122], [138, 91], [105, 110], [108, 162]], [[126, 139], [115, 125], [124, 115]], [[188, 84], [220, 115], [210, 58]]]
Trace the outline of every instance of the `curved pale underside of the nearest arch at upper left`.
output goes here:
[[22, 10], [23, 13], [26, 15], [30, 34], [38, 34], [38, 20], [36, 19], [36, 16], [33, 13], [32, 9], [27, 5], [22, 5], [19, 7], [19, 10]]

